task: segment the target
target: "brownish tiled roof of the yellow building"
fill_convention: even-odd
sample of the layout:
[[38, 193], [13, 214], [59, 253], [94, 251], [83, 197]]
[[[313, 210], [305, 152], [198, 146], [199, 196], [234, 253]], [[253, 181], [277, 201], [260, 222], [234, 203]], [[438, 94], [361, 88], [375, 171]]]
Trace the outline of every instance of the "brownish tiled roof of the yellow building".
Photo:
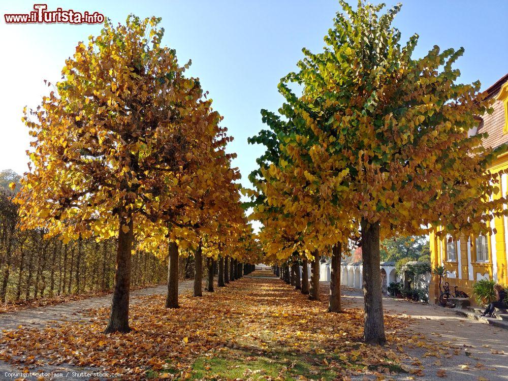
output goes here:
[[[487, 89], [489, 98], [494, 98], [499, 93], [501, 86], [508, 81], [508, 74], [499, 79], [496, 83]], [[508, 143], [508, 134], [503, 134], [504, 126], [504, 104], [501, 101], [495, 101], [492, 105], [494, 112], [492, 114], [482, 115], [482, 121], [478, 126], [478, 133], [488, 133], [489, 136], [483, 140], [486, 148], [496, 148], [501, 144]]]

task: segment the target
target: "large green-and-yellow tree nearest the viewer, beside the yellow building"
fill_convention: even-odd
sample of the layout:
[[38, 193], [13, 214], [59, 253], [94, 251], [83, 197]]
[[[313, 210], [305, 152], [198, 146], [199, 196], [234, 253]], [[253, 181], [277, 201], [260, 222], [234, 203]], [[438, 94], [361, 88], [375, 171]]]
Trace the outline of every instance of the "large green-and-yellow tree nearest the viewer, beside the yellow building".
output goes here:
[[[488, 233], [485, 221], [503, 213], [505, 200], [489, 198], [498, 192], [487, 172], [496, 152], [482, 147], [484, 134], [468, 134], [489, 103], [479, 82], [457, 83], [460, 72], [452, 66], [463, 49], [435, 46], [412, 58], [418, 36], [401, 46], [391, 26], [400, 5], [383, 14], [384, 4], [360, 2], [356, 11], [341, 5], [324, 50], [304, 49], [299, 71], [279, 85], [306, 132], [279, 140], [293, 163], [312, 162], [305, 177], [317, 183], [340, 177], [328, 198], [344, 200], [342, 215], [359, 222], [364, 337], [382, 344], [380, 237], [432, 228]], [[301, 85], [301, 96], [291, 82]]]

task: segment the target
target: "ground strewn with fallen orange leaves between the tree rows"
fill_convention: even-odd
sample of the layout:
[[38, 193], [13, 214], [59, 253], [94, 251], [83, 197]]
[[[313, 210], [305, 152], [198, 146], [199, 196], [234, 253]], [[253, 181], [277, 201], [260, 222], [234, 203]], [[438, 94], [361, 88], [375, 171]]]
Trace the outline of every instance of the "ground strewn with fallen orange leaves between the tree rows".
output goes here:
[[103, 333], [108, 308], [90, 310], [81, 322], [4, 331], [0, 359], [30, 370], [99, 368], [125, 379], [283, 381], [418, 377], [418, 364], [403, 365], [408, 346], [448, 356], [446, 345], [408, 332], [410, 320], [400, 315], [385, 317], [389, 345], [366, 345], [362, 309], [346, 303], [344, 313], [327, 313], [325, 288], [321, 302], [309, 301], [278, 278], [257, 274], [263, 277], [236, 280], [202, 298], [183, 295], [179, 309], [166, 309], [163, 296], [144, 297], [131, 307], [129, 334]]

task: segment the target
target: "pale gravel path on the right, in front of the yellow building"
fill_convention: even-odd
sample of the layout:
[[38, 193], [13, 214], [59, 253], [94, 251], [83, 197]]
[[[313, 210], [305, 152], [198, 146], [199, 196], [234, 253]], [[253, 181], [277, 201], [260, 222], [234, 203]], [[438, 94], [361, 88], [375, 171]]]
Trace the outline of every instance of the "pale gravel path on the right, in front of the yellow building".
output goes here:
[[[363, 308], [363, 293], [345, 289], [344, 298], [351, 302], [349, 306]], [[485, 323], [467, 320], [450, 308], [432, 304], [411, 303], [408, 301], [384, 298], [386, 312], [410, 316], [415, 320], [409, 330], [415, 334], [425, 333], [438, 341], [450, 341], [457, 346], [457, 353], [450, 351], [450, 358], [425, 357], [427, 350], [409, 348], [408, 354], [417, 360], [424, 375], [421, 377], [407, 374], [394, 376], [396, 380], [460, 380], [460, 381], [507, 381], [508, 380], [508, 331]], [[421, 365], [418, 364], [421, 362]], [[414, 361], [413, 361], [414, 362]], [[435, 365], [438, 364], [438, 365]], [[439, 365], [440, 364], [440, 365]], [[446, 377], [438, 377], [438, 369], [446, 370]], [[410, 377], [414, 378], [410, 378]], [[481, 378], [483, 377], [483, 378]], [[363, 379], [359, 377], [358, 379]], [[375, 379], [375, 378], [369, 378]], [[386, 379], [391, 379], [389, 376]]]

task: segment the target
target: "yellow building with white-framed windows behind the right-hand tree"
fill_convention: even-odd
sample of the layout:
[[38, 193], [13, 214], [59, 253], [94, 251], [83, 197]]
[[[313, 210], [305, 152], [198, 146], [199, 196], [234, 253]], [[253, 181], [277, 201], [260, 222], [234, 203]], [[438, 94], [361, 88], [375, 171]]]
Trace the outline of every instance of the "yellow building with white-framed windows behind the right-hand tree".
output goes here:
[[[495, 99], [494, 112], [479, 118], [478, 129], [469, 133], [488, 133], [489, 136], [483, 141], [487, 148], [497, 148], [504, 144], [508, 146], [508, 74], [489, 87], [487, 92], [489, 98]], [[497, 157], [490, 170], [499, 172], [507, 168], [508, 148]], [[507, 174], [500, 176], [500, 185], [501, 193], [494, 197], [500, 197], [501, 194], [505, 197], [508, 193]], [[473, 283], [483, 278], [508, 284], [508, 217], [496, 217], [490, 224], [496, 228], [496, 233], [491, 236], [462, 236], [455, 241], [431, 233], [432, 268], [441, 265], [446, 267], [447, 281], [450, 282], [452, 291], [454, 286], [458, 286], [458, 290], [471, 296]], [[432, 275], [429, 294], [435, 297], [434, 302], [437, 303], [439, 287], [436, 275]], [[471, 302], [474, 302], [474, 298]]]

